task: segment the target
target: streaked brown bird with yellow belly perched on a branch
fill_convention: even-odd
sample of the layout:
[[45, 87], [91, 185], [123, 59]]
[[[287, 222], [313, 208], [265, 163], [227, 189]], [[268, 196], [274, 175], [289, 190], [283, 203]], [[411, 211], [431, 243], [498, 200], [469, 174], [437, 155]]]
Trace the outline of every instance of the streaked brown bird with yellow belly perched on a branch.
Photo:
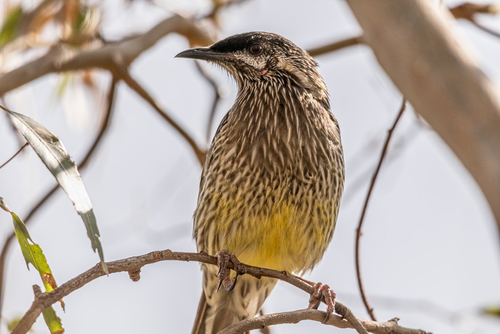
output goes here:
[[[197, 250], [217, 256], [219, 270], [201, 264], [192, 334], [212, 334], [255, 316], [276, 283], [244, 275], [235, 284], [229, 262], [298, 275], [319, 262], [338, 215], [343, 151], [318, 64], [287, 39], [243, 33], [175, 57], [214, 64], [237, 85], [207, 151], [193, 218]], [[324, 296], [327, 320], [335, 295], [309, 283], [309, 307]]]

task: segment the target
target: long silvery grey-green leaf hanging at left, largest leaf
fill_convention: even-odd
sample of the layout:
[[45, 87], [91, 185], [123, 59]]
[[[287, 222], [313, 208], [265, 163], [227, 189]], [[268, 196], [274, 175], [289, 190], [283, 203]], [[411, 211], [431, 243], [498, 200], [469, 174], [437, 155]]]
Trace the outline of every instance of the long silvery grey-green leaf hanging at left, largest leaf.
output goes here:
[[107, 273], [102, 246], [99, 241], [99, 230], [92, 211], [92, 203], [81, 181], [76, 165], [71, 161], [64, 145], [55, 134], [35, 120], [14, 113], [2, 105], [0, 105], [0, 108], [9, 114], [14, 126], [38, 154], [41, 161], [73, 202], [76, 212], [78, 212], [85, 224], [92, 249], [93, 251], [97, 250], [99, 253], [102, 268]]

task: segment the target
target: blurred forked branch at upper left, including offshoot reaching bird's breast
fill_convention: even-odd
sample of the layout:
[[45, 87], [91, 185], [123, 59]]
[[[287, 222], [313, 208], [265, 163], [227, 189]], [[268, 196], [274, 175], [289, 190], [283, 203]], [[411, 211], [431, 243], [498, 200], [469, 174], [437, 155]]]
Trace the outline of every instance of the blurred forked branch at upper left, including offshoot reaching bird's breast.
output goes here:
[[168, 33], [184, 35], [191, 44], [210, 44], [212, 40], [204, 31], [183, 17], [174, 15], [163, 20], [147, 33], [121, 42], [105, 44], [92, 51], [75, 52], [65, 45], [58, 45], [44, 56], [31, 61], [11, 72], [0, 75], [0, 95], [52, 72], [75, 71], [88, 68], [108, 70], [118, 79], [123, 80], [130, 88], [145, 99], [191, 146], [196, 158], [203, 165], [205, 152], [173, 119], [167, 115], [151, 96], [133, 80], [126, 68], [143, 51], [153, 46]]

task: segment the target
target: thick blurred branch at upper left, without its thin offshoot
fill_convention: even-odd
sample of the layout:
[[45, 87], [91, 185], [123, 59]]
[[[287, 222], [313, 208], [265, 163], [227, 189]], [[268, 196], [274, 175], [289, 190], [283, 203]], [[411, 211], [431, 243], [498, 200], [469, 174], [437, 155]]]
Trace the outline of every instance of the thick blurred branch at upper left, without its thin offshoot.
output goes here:
[[102, 68], [114, 72], [116, 63], [128, 66], [142, 52], [169, 33], [185, 36], [192, 45], [208, 45], [213, 42], [191, 20], [174, 15], [142, 35], [108, 43], [95, 50], [77, 51], [66, 45], [55, 46], [44, 56], [0, 75], [0, 95], [53, 72], [90, 68]]

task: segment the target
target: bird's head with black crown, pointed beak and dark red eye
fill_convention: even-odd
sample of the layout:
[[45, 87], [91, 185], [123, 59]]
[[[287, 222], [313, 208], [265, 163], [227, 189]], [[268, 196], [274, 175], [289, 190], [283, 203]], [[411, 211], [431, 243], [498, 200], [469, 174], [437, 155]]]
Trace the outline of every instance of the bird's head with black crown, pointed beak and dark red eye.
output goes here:
[[217, 64], [239, 87], [255, 81], [283, 83], [283, 78], [289, 78], [293, 84], [318, 94], [318, 98], [327, 96], [326, 86], [316, 71], [317, 63], [307, 52], [276, 34], [238, 34], [207, 48], [182, 51], [175, 57]]

